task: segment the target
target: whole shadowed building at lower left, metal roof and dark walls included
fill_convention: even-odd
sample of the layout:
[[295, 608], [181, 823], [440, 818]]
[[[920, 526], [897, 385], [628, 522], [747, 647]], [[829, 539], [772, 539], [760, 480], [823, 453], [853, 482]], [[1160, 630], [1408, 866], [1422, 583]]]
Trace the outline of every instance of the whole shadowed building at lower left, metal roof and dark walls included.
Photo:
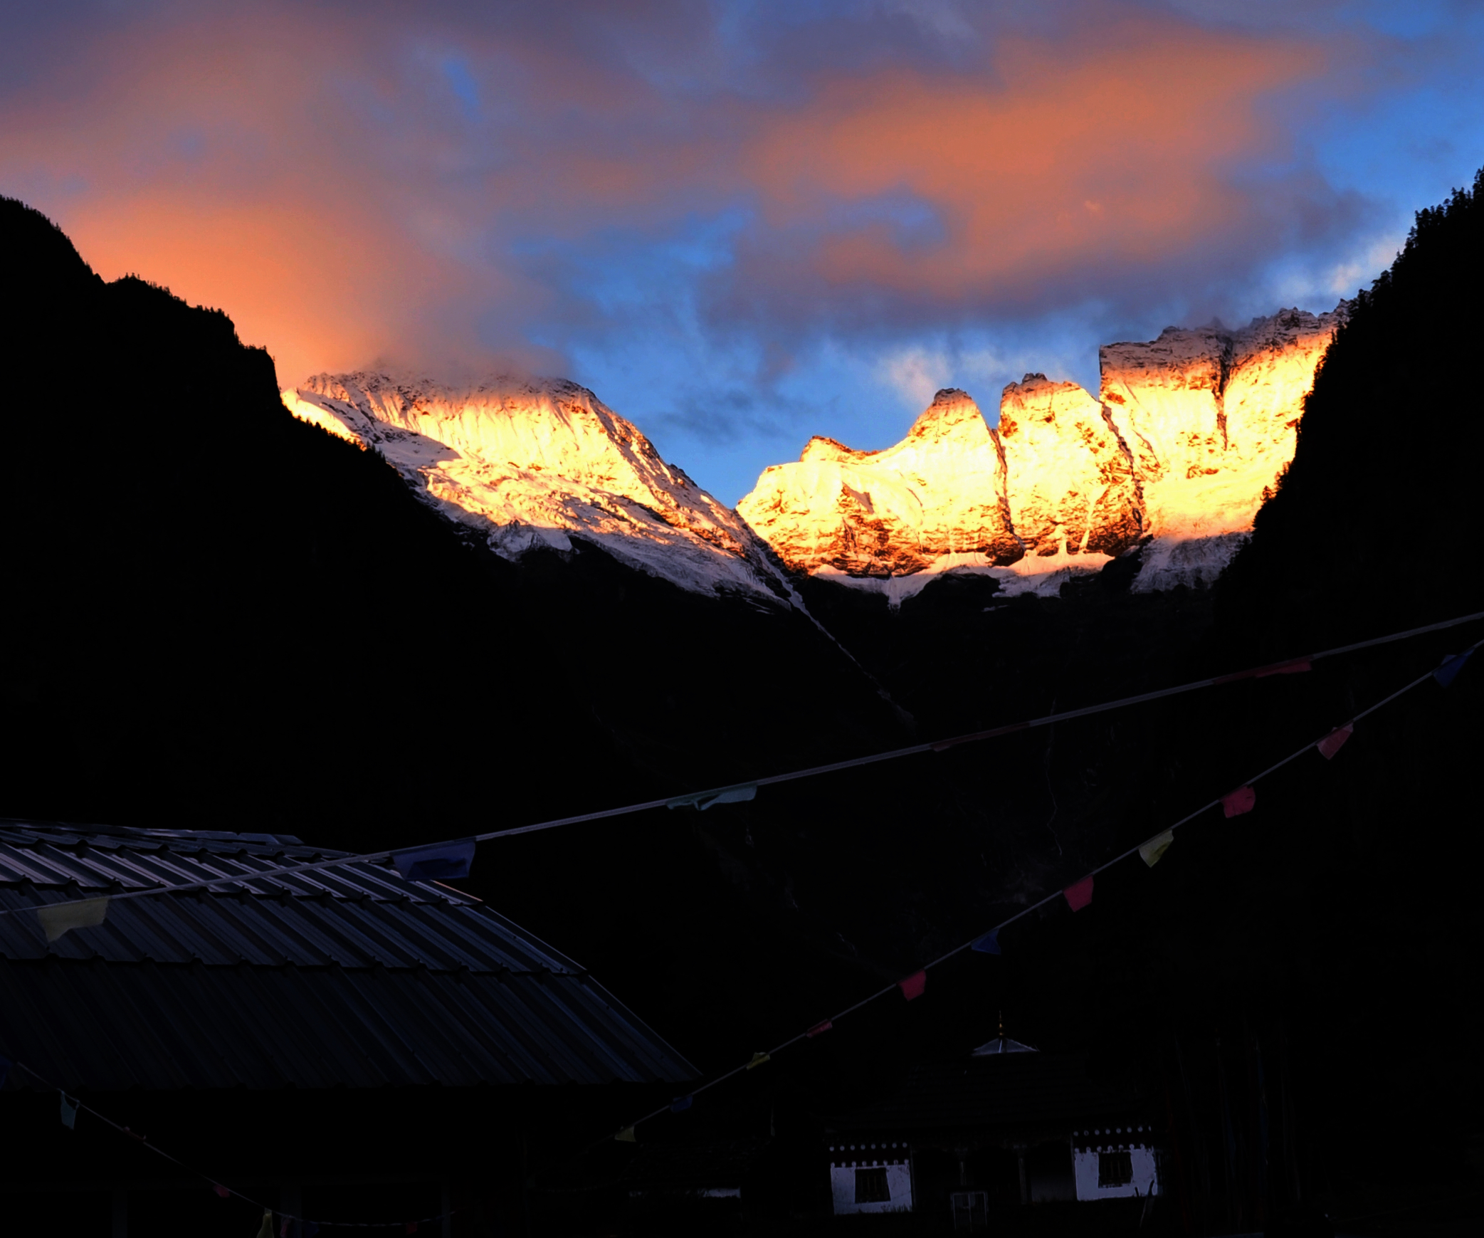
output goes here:
[[582, 966], [448, 885], [377, 864], [267, 876], [335, 855], [0, 822], [18, 1232], [252, 1234], [272, 1210], [275, 1235], [525, 1234], [533, 1159], [695, 1078]]

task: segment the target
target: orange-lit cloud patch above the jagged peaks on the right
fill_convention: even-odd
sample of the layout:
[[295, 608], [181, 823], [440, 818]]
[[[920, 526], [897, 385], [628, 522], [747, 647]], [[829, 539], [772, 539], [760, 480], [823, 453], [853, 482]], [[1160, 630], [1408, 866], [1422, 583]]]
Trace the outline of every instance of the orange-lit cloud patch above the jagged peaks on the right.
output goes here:
[[1152, 24], [1071, 52], [1006, 40], [988, 73], [827, 80], [760, 134], [748, 166], [782, 227], [892, 191], [944, 221], [928, 246], [884, 223], [825, 235], [821, 279], [1009, 298], [1223, 243], [1252, 214], [1232, 166], [1282, 144], [1258, 105], [1322, 67], [1310, 46]]

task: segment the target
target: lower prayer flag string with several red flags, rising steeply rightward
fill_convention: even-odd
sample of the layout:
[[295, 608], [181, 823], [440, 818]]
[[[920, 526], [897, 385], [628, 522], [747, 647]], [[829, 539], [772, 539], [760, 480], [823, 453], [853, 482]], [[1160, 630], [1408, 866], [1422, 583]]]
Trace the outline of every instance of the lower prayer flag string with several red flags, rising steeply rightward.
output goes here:
[[[951, 957], [954, 957], [957, 954], [962, 954], [965, 950], [975, 950], [975, 952], [982, 953], [982, 954], [999, 954], [1000, 953], [1000, 932], [1003, 929], [1009, 928], [1012, 923], [1015, 923], [1020, 919], [1024, 919], [1025, 916], [1031, 914], [1033, 911], [1039, 911], [1042, 907], [1048, 905], [1049, 903], [1054, 903], [1058, 898], [1064, 898], [1067, 901], [1067, 904], [1071, 907], [1073, 911], [1082, 910], [1083, 907], [1086, 907], [1092, 901], [1092, 879], [1097, 877], [1098, 873], [1103, 873], [1107, 868], [1112, 868], [1114, 864], [1120, 864], [1122, 861], [1128, 859], [1131, 855], [1138, 855], [1144, 861], [1144, 864], [1147, 864], [1150, 868], [1153, 868], [1155, 864], [1159, 862], [1159, 858], [1174, 843], [1174, 840], [1175, 840], [1175, 830], [1178, 830], [1181, 825], [1189, 824], [1195, 818], [1198, 818], [1198, 816], [1209, 812], [1212, 808], [1221, 806], [1226, 810], [1227, 816], [1235, 816], [1235, 815], [1241, 815], [1241, 813], [1245, 813], [1245, 812], [1251, 812], [1252, 808], [1254, 808], [1254, 805], [1257, 803], [1257, 793], [1252, 790], [1252, 784], [1254, 782], [1258, 782], [1260, 779], [1266, 778], [1270, 773], [1276, 773], [1285, 764], [1288, 764], [1291, 762], [1296, 762], [1298, 757], [1301, 757], [1304, 753], [1307, 753], [1312, 748], [1318, 748], [1327, 759], [1333, 757], [1334, 753], [1339, 750], [1340, 744], [1345, 742], [1345, 739], [1342, 739], [1340, 744], [1334, 744], [1328, 751], [1325, 751], [1324, 745], [1328, 744], [1336, 735], [1342, 735], [1343, 733], [1345, 738], [1347, 739], [1355, 732], [1355, 724], [1361, 718], [1368, 717], [1370, 714], [1374, 714], [1377, 710], [1383, 710], [1392, 701], [1396, 701], [1398, 698], [1405, 696], [1414, 687], [1426, 683], [1431, 678], [1435, 678], [1438, 683], [1441, 683], [1444, 687], [1447, 687], [1448, 684], [1453, 683], [1453, 677], [1457, 675], [1459, 669], [1468, 661], [1469, 655], [1472, 655], [1474, 650], [1478, 649], [1480, 646], [1484, 646], [1484, 641], [1478, 641], [1478, 643], [1472, 644], [1469, 649], [1466, 649], [1463, 653], [1456, 655], [1456, 656], [1453, 656], [1450, 659], [1445, 659], [1444, 664], [1442, 664], [1442, 667], [1439, 667], [1437, 671], [1428, 671], [1426, 674], [1419, 675], [1411, 683], [1404, 684], [1402, 687], [1396, 689], [1396, 692], [1393, 692], [1391, 696], [1385, 696], [1380, 701], [1377, 701], [1374, 705], [1371, 705], [1370, 708], [1362, 710], [1353, 718], [1350, 718], [1347, 723], [1345, 723], [1342, 727], [1339, 727], [1337, 730], [1331, 730], [1328, 735], [1325, 735], [1325, 738], [1321, 739], [1318, 744], [1310, 741], [1310, 742], [1304, 744], [1301, 748], [1298, 748], [1297, 751], [1290, 753], [1282, 760], [1275, 762], [1273, 764], [1267, 766], [1267, 769], [1264, 769], [1261, 773], [1252, 775], [1251, 778], [1247, 779], [1247, 782], [1244, 782], [1241, 787], [1238, 787], [1236, 791], [1229, 791], [1224, 796], [1218, 796], [1214, 800], [1208, 800], [1201, 808], [1198, 808], [1195, 812], [1186, 813], [1177, 822], [1174, 822], [1172, 825], [1169, 825], [1165, 830], [1160, 830], [1153, 837], [1146, 839], [1144, 842], [1137, 843], [1135, 846], [1131, 846], [1128, 851], [1119, 852], [1112, 859], [1100, 864], [1097, 868], [1094, 868], [1091, 873], [1088, 873], [1085, 877], [1082, 877], [1082, 880], [1074, 882], [1073, 885], [1067, 886], [1066, 889], [1060, 889], [1055, 894], [1048, 894], [1039, 903], [1033, 903], [1031, 905], [1024, 907], [1020, 911], [1017, 911], [1009, 919], [1002, 920], [994, 928], [991, 928], [988, 932], [979, 934], [978, 937], [972, 937], [968, 941], [965, 941], [963, 944], [953, 947], [953, 950], [948, 950], [945, 954], [939, 954], [930, 963], [926, 963], [922, 968], [922, 971], [914, 972], [907, 980], [899, 980], [895, 984], [887, 984], [884, 989], [877, 989], [874, 993], [862, 998], [853, 1006], [846, 1006], [838, 1014], [831, 1015], [830, 1018], [824, 1020], [822, 1023], [816, 1023], [807, 1032], [800, 1032], [798, 1035], [791, 1036], [789, 1039], [784, 1041], [782, 1044], [776, 1045], [775, 1048], [769, 1049], [767, 1052], [757, 1052], [757, 1054], [754, 1054], [752, 1055], [752, 1061], [746, 1063], [745, 1066], [735, 1066], [732, 1070], [727, 1070], [724, 1075], [718, 1075], [717, 1078], [709, 1079], [708, 1082], [705, 1082], [700, 1087], [695, 1088], [690, 1093], [690, 1095], [696, 1097], [700, 1093], [706, 1091], [708, 1088], [718, 1087], [720, 1084], [724, 1084], [727, 1079], [733, 1078], [735, 1075], [741, 1075], [743, 1070], [751, 1070], [754, 1066], [758, 1066], [763, 1061], [769, 1061], [775, 1054], [779, 1054], [784, 1049], [797, 1045], [800, 1041], [813, 1039], [816, 1035], [819, 1035], [821, 1030], [834, 1027], [834, 1024], [838, 1023], [846, 1015], [855, 1014], [855, 1011], [861, 1009], [862, 1006], [870, 1005], [871, 1002], [877, 1000], [879, 998], [884, 998], [887, 993], [901, 992], [902, 996], [905, 996], [908, 1000], [911, 1000], [913, 998], [920, 996], [923, 993], [923, 989], [928, 984], [928, 972], [932, 968], [938, 966], [939, 963], [945, 963], [945, 962], [948, 962], [948, 959], [951, 959]], [[1315, 661], [1319, 656], [1324, 656], [1324, 655], [1313, 655], [1312, 658], [1304, 659], [1304, 661]], [[1450, 671], [1450, 668], [1451, 668], [1451, 671]], [[1445, 678], [1441, 677], [1441, 672], [1444, 672], [1444, 671], [1450, 671], [1450, 674]], [[1235, 810], [1232, 808], [1233, 805], [1235, 805]], [[600, 1143], [605, 1143], [610, 1139], [628, 1139], [628, 1140], [632, 1140], [632, 1142], [638, 1142], [638, 1137], [634, 1134], [635, 1128], [641, 1122], [647, 1122], [651, 1118], [657, 1118], [659, 1115], [662, 1115], [665, 1112], [668, 1112], [668, 1107], [666, 1109], [656, 1109], [656, 1110], [653, 1110], [650, 1113], [646, 1113], [643, 1118], [635, 1118], [634, 1122], [631, 1122], [628, 1127], [625, 1127], [617, 1136], [604, 1136], [603, 1139], [594, 1140], [583, 1150], [589, 1150], [592, 1147], [597, 1147]]]

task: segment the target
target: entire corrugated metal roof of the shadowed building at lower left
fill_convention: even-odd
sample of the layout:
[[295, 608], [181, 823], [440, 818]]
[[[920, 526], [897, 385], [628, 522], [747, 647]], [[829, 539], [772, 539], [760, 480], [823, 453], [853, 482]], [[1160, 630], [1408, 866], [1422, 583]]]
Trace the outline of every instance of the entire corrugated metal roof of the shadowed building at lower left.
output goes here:
[[[0, 822], [0, 904], [113, 903], [47, 944], [0, 916], [0, 1052], [65, 1088], [680, 1082], [695, 1069], [570, 959], [467, 895], [272, 834]], [[25, 1085], [12, 1075], [9, 1087]]]

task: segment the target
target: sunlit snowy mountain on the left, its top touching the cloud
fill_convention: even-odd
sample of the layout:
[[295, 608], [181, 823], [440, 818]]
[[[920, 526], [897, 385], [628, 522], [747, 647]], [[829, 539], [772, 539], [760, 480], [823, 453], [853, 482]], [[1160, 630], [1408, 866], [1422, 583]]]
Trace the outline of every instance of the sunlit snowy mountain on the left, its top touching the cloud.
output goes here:
[[551, 381], [450, 390], [386, 374], [319, 374], [285, 390], [303, 420], [378, 450], [439, 511], [519, 558], [580, 537], [696, 592], [787, 598], [736, 512], [660, 459], [586, 387]]

